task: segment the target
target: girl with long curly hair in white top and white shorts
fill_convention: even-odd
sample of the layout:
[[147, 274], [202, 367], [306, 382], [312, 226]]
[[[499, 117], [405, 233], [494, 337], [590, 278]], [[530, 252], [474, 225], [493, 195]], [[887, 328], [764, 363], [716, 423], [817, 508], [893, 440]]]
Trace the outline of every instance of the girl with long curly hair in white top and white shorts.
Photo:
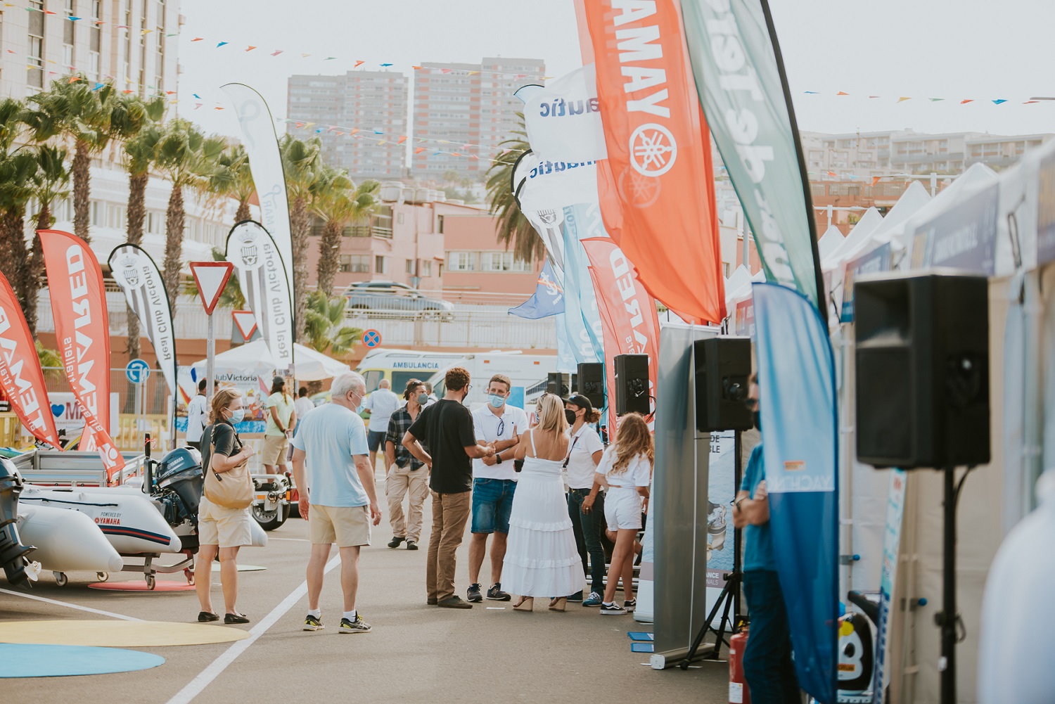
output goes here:
[[[633, 611], [634, 554], [637, 531], [641, 530], [641, 513], [648, 511], [649, 486], [652, 483], [654, 456], [652, 434], [639, 414], [619, 419], [618, 438], [601, 456], [597, 465], [597, 481], [608, 487], [605, 498], [605, 520], [608, 537], [615, 543], [608, 568], [602, 614]], [[615, 603], [615, 588], [622, 578], [624, 604]]]

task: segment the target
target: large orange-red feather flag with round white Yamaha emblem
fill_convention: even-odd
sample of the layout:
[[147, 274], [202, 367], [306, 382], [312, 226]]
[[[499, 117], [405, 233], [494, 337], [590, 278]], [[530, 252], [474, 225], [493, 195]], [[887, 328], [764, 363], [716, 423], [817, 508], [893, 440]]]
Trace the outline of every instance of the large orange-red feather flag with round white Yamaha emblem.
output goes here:
[[[592, 0], [584, 14], [608, 159], [605, 227], [653, 297], [686, 321], [725, 319], [710, 133], [689, 73], [677, 0]], [[581, 26], [580, 26], [581, 30]]]

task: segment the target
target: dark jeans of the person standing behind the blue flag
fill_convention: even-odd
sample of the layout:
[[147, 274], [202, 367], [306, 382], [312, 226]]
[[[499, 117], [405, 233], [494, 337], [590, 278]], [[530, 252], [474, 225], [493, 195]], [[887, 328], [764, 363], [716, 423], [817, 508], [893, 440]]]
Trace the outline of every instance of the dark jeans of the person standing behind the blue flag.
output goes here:
[[752, 704], [801, 704], [791, 661], [791, 629], [776, 572], [744, 572], [744, 596], [751, 629], [744, 649], [744, 677]]

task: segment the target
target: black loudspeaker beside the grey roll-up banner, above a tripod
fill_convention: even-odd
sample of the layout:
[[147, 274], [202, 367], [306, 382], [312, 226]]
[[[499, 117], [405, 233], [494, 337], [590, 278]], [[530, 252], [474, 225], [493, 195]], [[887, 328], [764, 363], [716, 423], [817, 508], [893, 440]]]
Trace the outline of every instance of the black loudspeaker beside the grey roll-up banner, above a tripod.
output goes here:
[[696, 430], [746, 431], [754, 424], [747, 406], [751, 338], [714, 337], [693, 343]]

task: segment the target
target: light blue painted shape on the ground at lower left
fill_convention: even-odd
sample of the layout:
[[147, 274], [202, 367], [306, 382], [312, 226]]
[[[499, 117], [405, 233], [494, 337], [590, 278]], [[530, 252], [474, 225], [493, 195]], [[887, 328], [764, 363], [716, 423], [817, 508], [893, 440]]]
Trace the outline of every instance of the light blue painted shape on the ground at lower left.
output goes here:
[[111, 674], [157, 667], [165, 658], [152, 652], [82, 645], [0, 643], [0, 678], [60, 678]]

